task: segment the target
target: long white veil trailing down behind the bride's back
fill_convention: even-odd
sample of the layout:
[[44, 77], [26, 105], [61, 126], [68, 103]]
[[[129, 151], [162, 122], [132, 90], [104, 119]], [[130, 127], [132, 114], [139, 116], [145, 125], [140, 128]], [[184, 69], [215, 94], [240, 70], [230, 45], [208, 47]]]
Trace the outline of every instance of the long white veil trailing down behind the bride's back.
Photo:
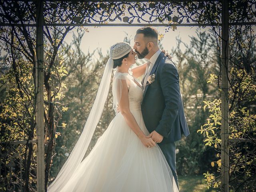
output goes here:
[[92, 140], [92, 136], [104, 109], [104, 104], [106, 102], [109, 92], [113, 65], [114, 61], [110, 58], [105, 66], [96, 99], [86, 121], [86, 124], [84, 125], [82, 134], [80, 135], [76, 145], [70, 153], [70, 156], [66, 160], [65, 164], [62, 166], [57, 177], [50, 184], [50, 186], [48, 186], [48, 192], [60, 191], [64, 184], [70, 179], [70, 177], [76, 170], [76, 167], [82, 162], [82, 159], [86, 153], [90, 141]]

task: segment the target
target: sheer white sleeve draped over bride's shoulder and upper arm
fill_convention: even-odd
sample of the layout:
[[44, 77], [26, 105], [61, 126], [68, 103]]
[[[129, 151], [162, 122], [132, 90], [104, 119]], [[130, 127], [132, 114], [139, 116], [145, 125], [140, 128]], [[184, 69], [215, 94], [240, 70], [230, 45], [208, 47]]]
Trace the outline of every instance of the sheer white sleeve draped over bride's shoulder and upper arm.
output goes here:
[[113, 77], [113, 84], [112, 84], [113, 109], [116, 112], [116, 114], [118, 113], [117, 107], [122, 96], [122, 88], [123, 86], [127, 86], [129, 90], [131, 81], [133, 81], [133, 77], [128, 73], [117, 72]]

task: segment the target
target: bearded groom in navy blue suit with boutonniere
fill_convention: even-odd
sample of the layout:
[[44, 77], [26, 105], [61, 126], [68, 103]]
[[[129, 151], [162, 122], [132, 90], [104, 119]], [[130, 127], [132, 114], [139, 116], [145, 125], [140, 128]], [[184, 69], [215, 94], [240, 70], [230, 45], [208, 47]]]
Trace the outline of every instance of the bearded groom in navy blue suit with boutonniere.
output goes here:
[[174, 62], [164, 57], [159, 49], [155, 28], [138, 29], [133, 48], [139, 59], [149, 60], [142, 79], [141, 106], [146, 128], [151, 132], [148, 137], [158, 143], [178, 186], [174, 141], [180, 140], [182, 134], [190, 134], [180, 95], [179, 74]]

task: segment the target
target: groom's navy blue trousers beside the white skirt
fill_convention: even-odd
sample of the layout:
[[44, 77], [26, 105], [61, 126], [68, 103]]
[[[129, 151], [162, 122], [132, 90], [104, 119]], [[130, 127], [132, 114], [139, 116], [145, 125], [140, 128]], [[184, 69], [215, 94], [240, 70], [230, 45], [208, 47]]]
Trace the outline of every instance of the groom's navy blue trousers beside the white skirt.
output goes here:
[[172, 170], [172, 175], [174, 176], [174, 180], [176, 182], [177, 187], [179, 188], [179, 183], [178, 183], [178, 176], [176, 172], [176, 144], [174, 142], [170, 142], [167, 144], [161, 144], [158, 143], [158, 146], [161, 148], [166, 161], [168, 162], [171, 170]]

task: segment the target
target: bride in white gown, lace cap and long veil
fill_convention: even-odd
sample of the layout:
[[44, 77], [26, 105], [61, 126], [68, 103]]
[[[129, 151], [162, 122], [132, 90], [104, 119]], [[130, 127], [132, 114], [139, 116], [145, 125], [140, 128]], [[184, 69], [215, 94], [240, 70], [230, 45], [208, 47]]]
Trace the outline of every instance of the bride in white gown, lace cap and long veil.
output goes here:
[[[129, 69], [136, 62], [135, 56], [126, 42], [110, 48], [110, 59], [84, 130], [48, 186], [49, 192], [178, 192], [160, 147], [146, 138], [149, 132], [141, 112], [142, 86]], [[112, 80], [116, 116], [82, 160], [104, 108], [113, 68], [117, 68]], [[139, 66], [134, 72], [138, 74], [143, 68]]]

